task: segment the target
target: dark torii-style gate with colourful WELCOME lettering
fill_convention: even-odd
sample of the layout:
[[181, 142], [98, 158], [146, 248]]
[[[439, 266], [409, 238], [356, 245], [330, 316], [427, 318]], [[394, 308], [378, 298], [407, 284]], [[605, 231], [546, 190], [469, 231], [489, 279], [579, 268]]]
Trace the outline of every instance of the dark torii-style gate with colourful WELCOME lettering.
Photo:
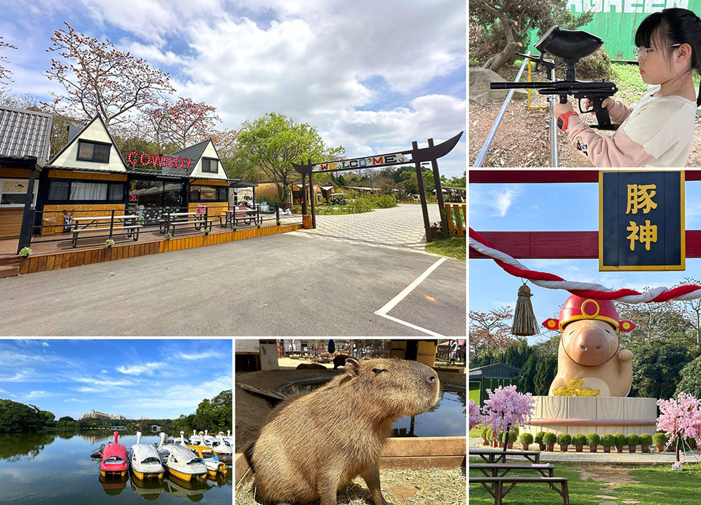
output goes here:
[[[421, 210], [423, 212], [423, 226], [426, 228], [426, 241], [433, 240], [431, 237], [430, 223], [428, 222], [428, 204], [426, 203], [426, 190], [423, 187], [423, 177], [421, 177], [421, 163], [430, 161], [433, 168], [433, 182], [435, 182], [436, 196], [438, 198], [438, 206], [440, 208], [441, 231], [444, 238], [448, 238], [448, 224], [445, 215], [445, 205], [443, 202], [443, 189], [440, 184], [440, 174], [438, 173], [438, 161], [453, 150], [455, 145], [462, 137], [463, 132], [458, 133], [454, 137], [449, 138], [445, 142], [438, 145], [433, 145], [433, 139], [428, 139], [428, 147], [418, 148], [418, 142], [411, 142], [411, 149], [406, 151], [394, 152], [389, 154], [376, 154], [373, 156], [363, 156], [362, 158], [346, 159], [341, 161], [324, 161], [312, 165], [311, 159], [307, 164], [298, 165], [292, 163], [292, 168], [297, 170], [302, 176], [302, 214], [307, 215], [307, 194], [306, 177], [309, 177], [309, 188], [314, 191], [313, 174], [322, 172], [338, 172], [340, 170], [358, 170], [359, 168], [380, 168], [383, 166], [404, 165], [406, 163], [414, 163], [416, 166], [416, 182], [418, 183], [418, 192], [421, 198]], [[408, 158], [407, 156], [411, 156]], [[316, 228], [316, 213], [314, 209], [314, 198], [311, 196], [311, 227]], [[304, 218], [303, 218], [304, 219]]]

